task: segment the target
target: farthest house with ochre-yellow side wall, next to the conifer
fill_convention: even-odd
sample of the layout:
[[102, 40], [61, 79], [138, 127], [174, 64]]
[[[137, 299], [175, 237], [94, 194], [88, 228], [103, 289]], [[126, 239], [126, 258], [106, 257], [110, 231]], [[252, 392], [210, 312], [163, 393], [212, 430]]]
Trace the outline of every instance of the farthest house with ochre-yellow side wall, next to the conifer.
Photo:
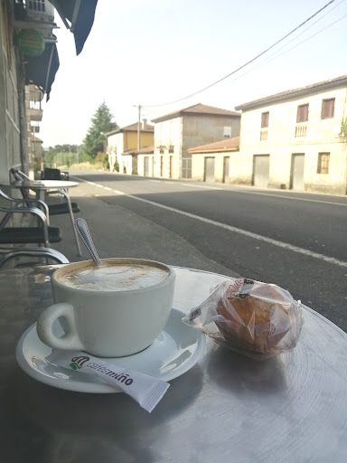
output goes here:
[[[105, 134], [110, 172], [117, 171], [120, 174], [136, 175], [137, 156], [143, 148], [148, 146], [151, 146], [151, 150], [153, 150], [154, 131], [154, 127], [147, 124], [144, 119], [140, 124], [140, 133], [138, 133], [138, 123], [136, 122]], [[140, 150], [137, 149], [138, 142]]]

